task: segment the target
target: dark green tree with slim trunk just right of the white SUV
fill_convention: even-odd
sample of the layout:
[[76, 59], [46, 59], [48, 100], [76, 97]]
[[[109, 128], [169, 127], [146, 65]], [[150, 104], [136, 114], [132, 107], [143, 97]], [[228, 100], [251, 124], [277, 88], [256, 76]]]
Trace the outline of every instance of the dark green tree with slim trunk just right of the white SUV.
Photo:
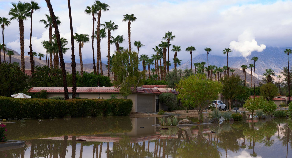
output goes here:
[[240, 77], [238, 75], [225, 77], [222, 79], [223, 96], [228, 101], [229, 111], [231, 111], [232, 100], [245, 92], [245, 88], [240, 85]]

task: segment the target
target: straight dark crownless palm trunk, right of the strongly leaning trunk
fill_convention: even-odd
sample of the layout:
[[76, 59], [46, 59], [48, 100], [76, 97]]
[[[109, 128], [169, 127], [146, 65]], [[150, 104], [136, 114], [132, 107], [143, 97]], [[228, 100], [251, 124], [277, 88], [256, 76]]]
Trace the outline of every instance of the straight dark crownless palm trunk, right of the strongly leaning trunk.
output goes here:
[[[73, 26], [72, 26], [72, 16], [71, 16], [71, 4], [70, 0], [68, 0], [68, 10], [69, 10], [69, 21], [70, 21], [70, 33], [71, 33], [71, 67], [72, 67], [72, 99], [76, 98], [77, 95], [77, 85], [76, 85], [76, 62], [75, 62], [75, 48], [74, 48], [74, 35], [73, 35]], [[93, 38], [92, 38], [93, 39]], [[79, 53], [81, 54], [81, 49], [79, 48]], [[82, 62], [82, 57], [80, 60], [80, 64]], [[94, 65], [94, 58], [93, 58]], [[81, 67], [83, 68], [83, 67]], [[93, 68], [93, 70], [95, 70]], [[81, 73], [83, 73], [81, 71]], [[75, 157], [75, 156], [74, 156]]]

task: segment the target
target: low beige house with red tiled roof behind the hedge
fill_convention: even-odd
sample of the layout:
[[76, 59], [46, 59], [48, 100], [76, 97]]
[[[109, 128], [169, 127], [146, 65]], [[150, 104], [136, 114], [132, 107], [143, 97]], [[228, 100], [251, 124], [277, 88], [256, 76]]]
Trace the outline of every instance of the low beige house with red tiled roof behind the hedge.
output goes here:
[[[127, 96], [127, 99], [133, 101], [131, 112], [153, 112], [159, 109], [159, 95], [161, 92], [157, 88], [142, 88], [137, 87], [135, 90], [132, 87], [132, 93]], [[48, 97], [62, 96], [64, 97], [63, 87], [32, 87], [28, 90], [29, 93], [37, 93], [41, 90], [46, 90]], [[72, 87], [68, 87], [69, 98], [72, 98]], [[115, 87], [77, 87], [78, 98], [88, 99], [109, 99], [112, 94], [119, 96], [119, 88]]]

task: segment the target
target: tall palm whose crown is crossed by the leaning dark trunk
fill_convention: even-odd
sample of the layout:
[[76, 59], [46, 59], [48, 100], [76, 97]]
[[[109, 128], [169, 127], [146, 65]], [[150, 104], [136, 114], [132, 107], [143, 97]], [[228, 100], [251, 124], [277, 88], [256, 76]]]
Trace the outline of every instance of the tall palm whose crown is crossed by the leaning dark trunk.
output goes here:
[[[49, 39], [50, 39], [49, 42], [52, 43], [53, 27], [54, 27], [53, 19], [51, 18], [50, 15], [47, 15], [47, 14], [46, 14], [46, 19], [47, 20], [44, 20], [44, 19], [40, 20], [39, 22], [44, 23], [45, 24], [45, 28], [49, 27]], [[56, 25], [61, 25], [61, 21], [59, 20], [58, 16], [56, 16]], [[50, 67], [51, 67], [51, 69], [53, 68], [53, 55], [54, 55], [54, 67], [58, 67], [58, 63], [57, 63], [57, 66], [55, 65], [56, 64], [55, 59], [56, 59], [56, 56], [58, 56], [58, 52], [55, 52], [54, 54], [50, 53]]]

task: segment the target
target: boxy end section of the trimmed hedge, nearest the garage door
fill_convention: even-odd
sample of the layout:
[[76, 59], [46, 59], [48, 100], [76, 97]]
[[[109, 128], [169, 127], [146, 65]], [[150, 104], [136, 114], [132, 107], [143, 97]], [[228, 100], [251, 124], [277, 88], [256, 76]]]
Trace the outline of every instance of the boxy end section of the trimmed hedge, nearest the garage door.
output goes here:
[[131, 99], [114, 99], [111, 100], [113, 116], [128, 116], [133, 107]]

